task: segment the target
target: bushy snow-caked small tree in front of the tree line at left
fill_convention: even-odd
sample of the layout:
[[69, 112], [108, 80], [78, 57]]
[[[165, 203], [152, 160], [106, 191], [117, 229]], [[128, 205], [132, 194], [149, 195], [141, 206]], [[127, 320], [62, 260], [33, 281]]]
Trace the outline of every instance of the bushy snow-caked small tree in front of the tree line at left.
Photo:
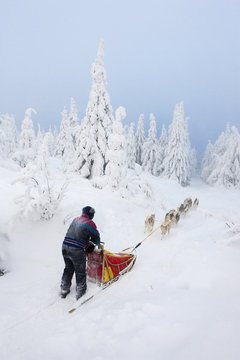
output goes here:
[[43, 139], [39, 148], [36, 161], [28, 162], [22, 170], [19, 178], [13, 184], [22, 182], [25, 184], [25, 193], [16, 199], [20, 206], [22, 217], [30, 220], [49, 220], [51, 219], [62, 200], [67, 183], [64, 183], [60, 189], [57, 189], [54, 183], [48, 165], [49, 134]]

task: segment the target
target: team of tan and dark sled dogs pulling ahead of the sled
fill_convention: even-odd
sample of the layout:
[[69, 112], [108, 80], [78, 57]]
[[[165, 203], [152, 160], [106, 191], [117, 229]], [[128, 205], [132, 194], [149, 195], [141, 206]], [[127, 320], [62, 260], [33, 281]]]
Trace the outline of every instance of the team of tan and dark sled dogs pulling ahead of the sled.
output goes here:
[[[181, 216], [186, 215], [189, 209], [193, 207], [196, 209], [199, 204], [199, 199], [192, 201], [190, 197], [184, 200], [184, 202], [177, 208], [177, 210], [170, 210], [165, 215], [164, 222], [160, 225], [162, 236], [168, 234], [173, 225], [176, 225]], [[155, 214], [148, 215], [145, 220], [144, 232], [150, 234], [153, 231], [155, 223]]]

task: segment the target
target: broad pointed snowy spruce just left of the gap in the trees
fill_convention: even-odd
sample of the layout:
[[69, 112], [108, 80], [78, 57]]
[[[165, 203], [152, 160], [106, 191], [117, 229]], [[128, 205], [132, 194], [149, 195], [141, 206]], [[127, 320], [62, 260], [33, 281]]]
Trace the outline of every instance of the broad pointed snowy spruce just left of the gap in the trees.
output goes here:
[[182, 186], [189, 184], [191, 175], [191, 147], [187, 121], [184, 119], [183, 102], [174, 109], [173, 121], [168, 129], [168, 144], [164, 159], [164, 176]]

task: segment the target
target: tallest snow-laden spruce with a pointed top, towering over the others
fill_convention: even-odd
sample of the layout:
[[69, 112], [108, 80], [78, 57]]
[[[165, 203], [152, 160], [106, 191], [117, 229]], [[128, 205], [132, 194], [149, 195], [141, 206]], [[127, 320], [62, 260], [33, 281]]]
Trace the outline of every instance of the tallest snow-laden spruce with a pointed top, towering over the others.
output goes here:
[[75, 162], [75, 171], [86, 178], [105, 175], [106, 152], [113, 124], [112, 106], [106, 90], [103, 55], [101, 40], [97, 58], [92, 66], [92, 88], [80, 128]]

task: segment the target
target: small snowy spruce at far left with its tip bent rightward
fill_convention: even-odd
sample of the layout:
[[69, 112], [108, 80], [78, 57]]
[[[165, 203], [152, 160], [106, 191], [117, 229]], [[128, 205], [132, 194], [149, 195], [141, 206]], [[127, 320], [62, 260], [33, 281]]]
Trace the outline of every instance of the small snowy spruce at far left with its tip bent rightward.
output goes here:
[[33, 108], [28, 108], [25, 112], [19, 136], [19, 148], [13, 155], [13, 160], [21, 167], [25, 167], [29, 161], [33, 161], [36, 157], [36, 135], [31, 119], [32, 113], [37, 114]]

